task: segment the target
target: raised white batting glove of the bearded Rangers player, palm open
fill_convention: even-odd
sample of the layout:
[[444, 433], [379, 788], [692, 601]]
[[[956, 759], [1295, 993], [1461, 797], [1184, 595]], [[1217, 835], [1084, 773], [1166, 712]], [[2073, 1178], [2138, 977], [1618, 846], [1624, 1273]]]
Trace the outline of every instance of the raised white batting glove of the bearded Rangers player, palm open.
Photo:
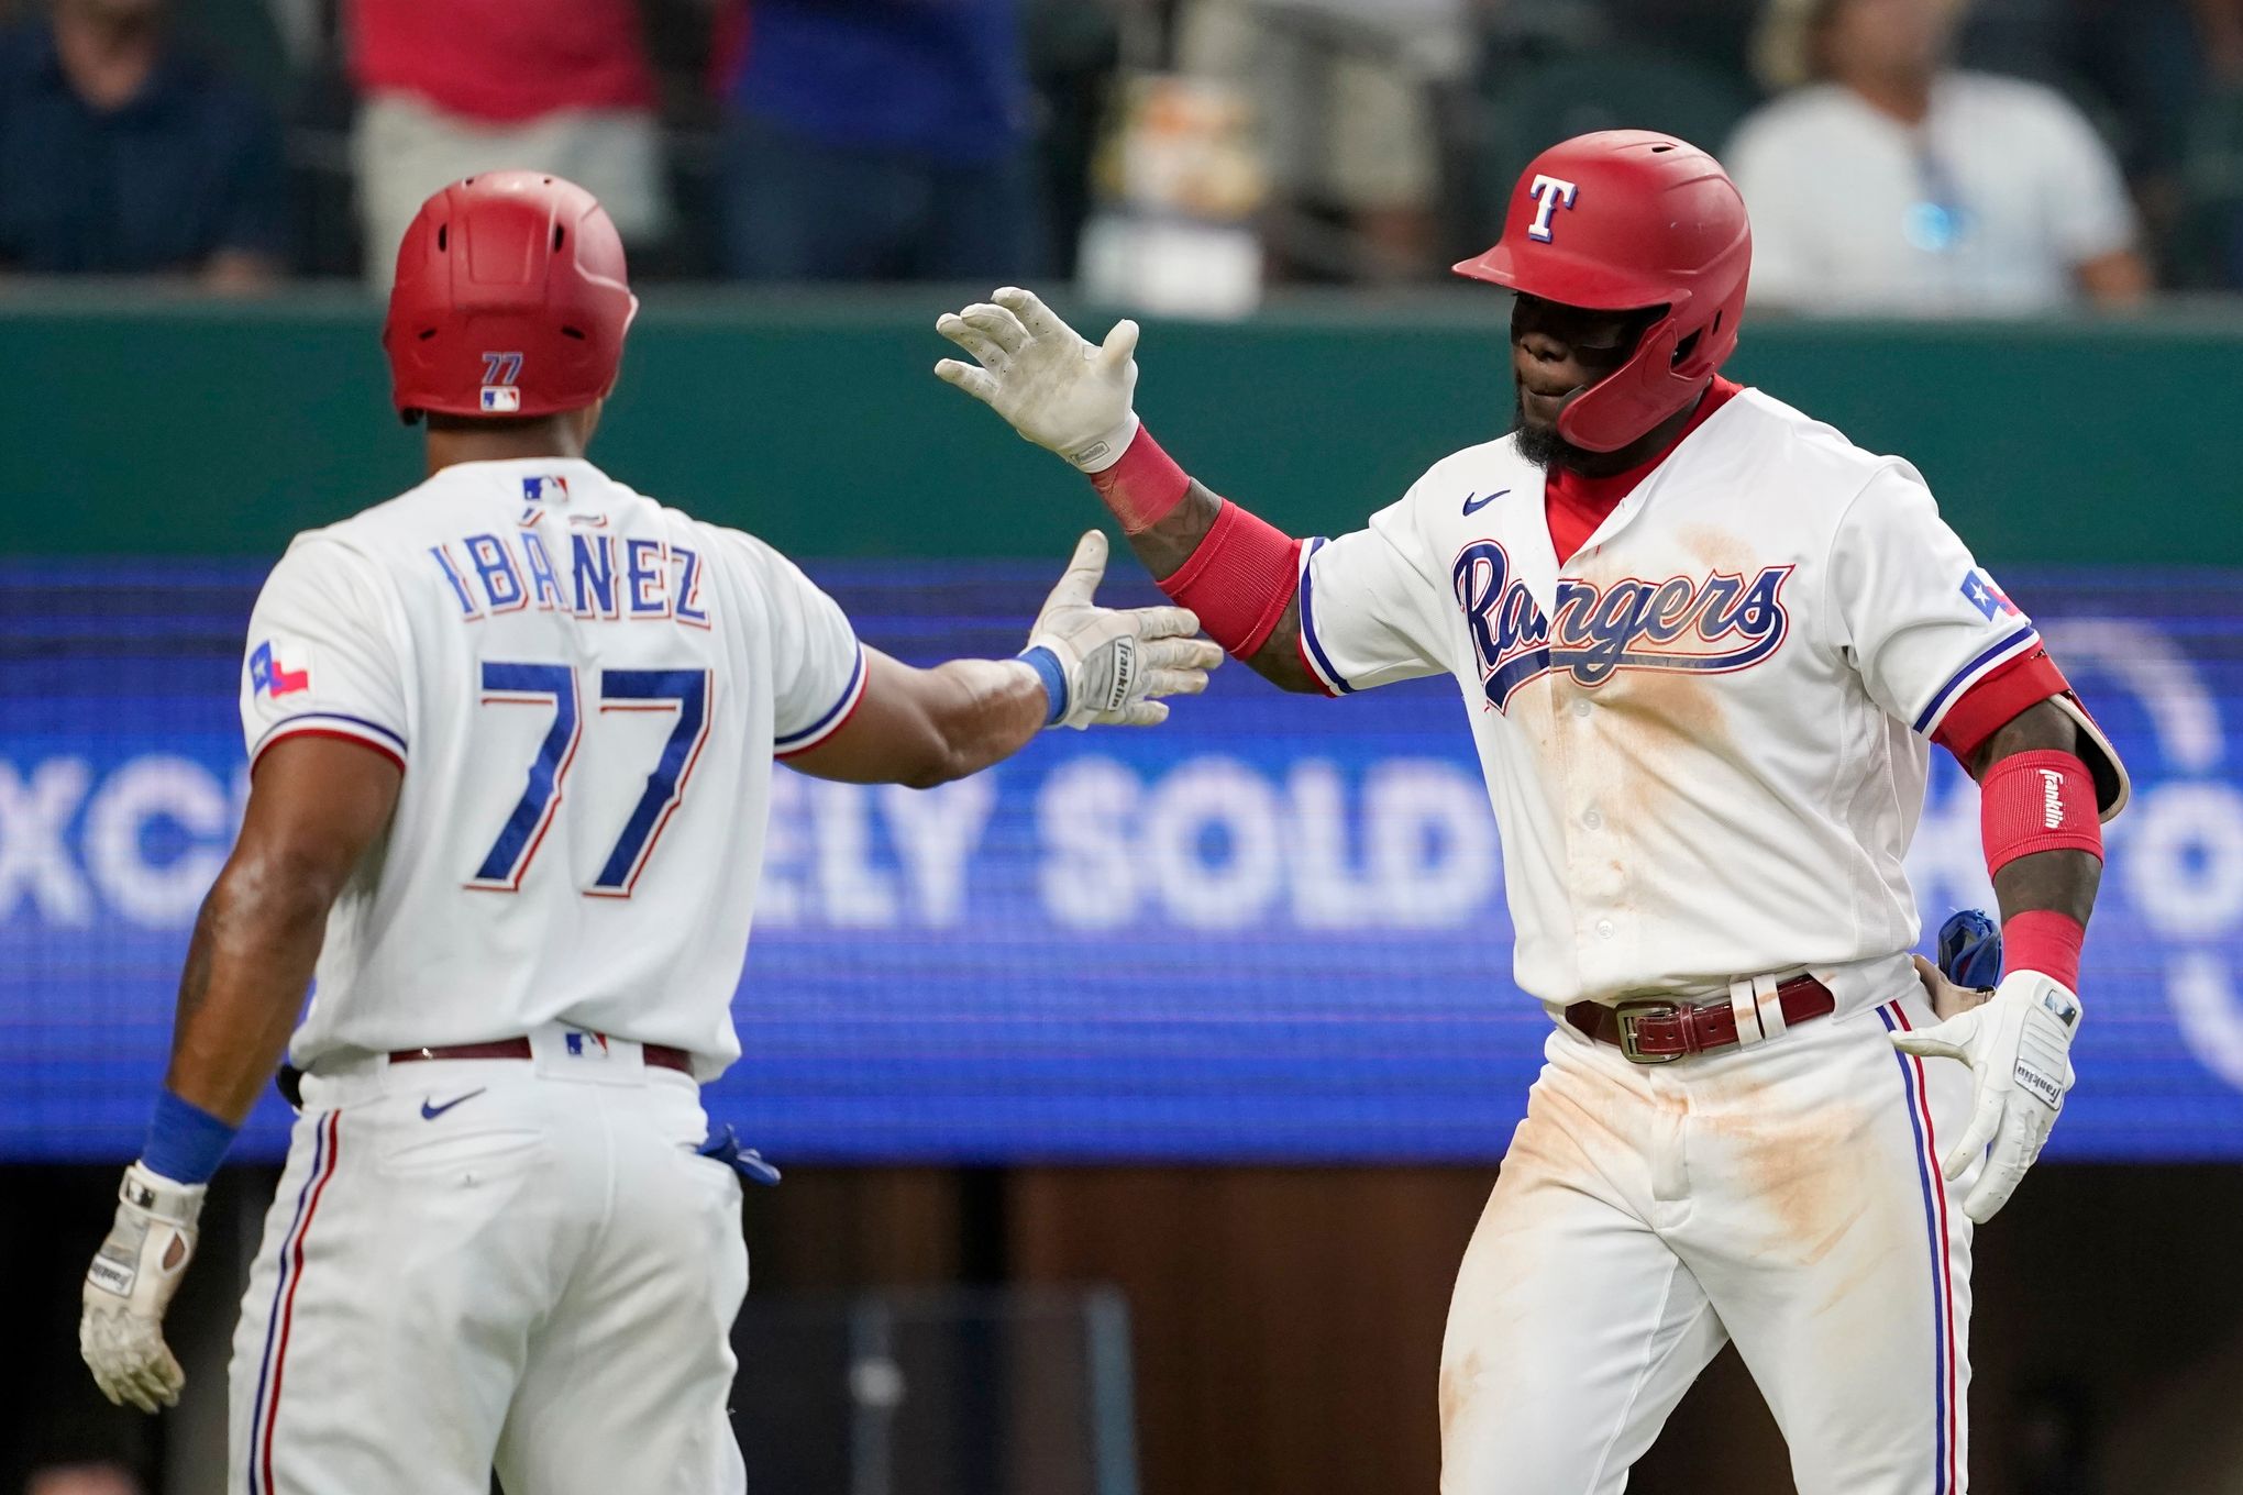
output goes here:
[[1021, 433], [1086, 473], [1104, 473], [1137, 435], [1137, 323], [1115, 323], [1092, 345], [1034, 291], [1007, 285], [991, 300], [944, 312], [935, 332], [980, 368], [944, 359], [935, 379], [956, 383]]

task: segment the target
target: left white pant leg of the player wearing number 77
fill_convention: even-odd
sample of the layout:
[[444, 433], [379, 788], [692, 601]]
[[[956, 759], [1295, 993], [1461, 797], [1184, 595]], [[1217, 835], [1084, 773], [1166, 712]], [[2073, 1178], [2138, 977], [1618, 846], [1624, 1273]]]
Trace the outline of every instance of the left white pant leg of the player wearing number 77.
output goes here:
[[529, 1327], [585, 1235], [552, 1089], [431, 1062], [334, 1107], [305, 1080], [233, 1336], [233, 1495], [487, 1495]]

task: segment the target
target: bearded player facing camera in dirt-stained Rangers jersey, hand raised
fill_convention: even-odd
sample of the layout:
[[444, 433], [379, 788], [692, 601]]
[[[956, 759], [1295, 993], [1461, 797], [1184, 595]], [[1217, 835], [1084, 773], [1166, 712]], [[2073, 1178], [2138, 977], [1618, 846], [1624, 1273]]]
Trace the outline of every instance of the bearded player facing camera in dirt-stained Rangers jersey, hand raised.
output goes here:
[[[1337, 540], [1162, 453], [1133, 323], [1090, 345], [1021, 289], [938, 323], [976, 363], [935, 372], [1086, 471], [1254, 670], [1458, 681], [1552, 1024], [1449, 1309], [1451, 1495], [1619, 1491], [1725, 1340], [1808, 1495], [1960, 1491], [1972, 1226], [2073, 1083], [2124, 771], [1916, 468], [1720, 377], [1750, 258], [1673, 137], [1541, 155], [1458, 264], [1514, 294], [1516, 428]], [[1909, 957], [1933, 742], [1985, 805], [1983, 1004]]]

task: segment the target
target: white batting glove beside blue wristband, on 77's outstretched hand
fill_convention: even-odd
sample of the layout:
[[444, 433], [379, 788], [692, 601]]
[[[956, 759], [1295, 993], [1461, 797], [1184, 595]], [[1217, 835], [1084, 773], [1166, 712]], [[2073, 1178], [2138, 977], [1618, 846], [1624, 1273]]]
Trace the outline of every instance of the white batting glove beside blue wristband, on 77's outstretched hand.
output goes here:
[[1074, 545], [1068, 574], [1043, 601], [1027, 648], [1047, 648], [1068, 679], [1068, 699], [1052, 726], [1155, 726], [1169, 719], [1164, 695], [1207, 690], [1222, 650], [1200, 632], [1189, 607], [1099, 607], [1106, 536]]

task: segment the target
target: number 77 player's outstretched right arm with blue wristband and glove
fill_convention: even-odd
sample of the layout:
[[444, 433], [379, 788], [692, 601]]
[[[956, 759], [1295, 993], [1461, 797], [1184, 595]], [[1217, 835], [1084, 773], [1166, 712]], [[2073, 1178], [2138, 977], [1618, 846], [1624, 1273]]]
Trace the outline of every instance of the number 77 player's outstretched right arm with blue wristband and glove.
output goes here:
[[1182, 607], [1099, 607], [1106, 536], [1090, 531], [1018, 659], [951, 659], [917, 670], [866, 650], [850, 719], [787, 764], [852, 784], [931, 789], [1018, 753], [1045, 726], [1153, 726], [1162, 697], [1198, 695], [1222, 652], [1193, 639]]

